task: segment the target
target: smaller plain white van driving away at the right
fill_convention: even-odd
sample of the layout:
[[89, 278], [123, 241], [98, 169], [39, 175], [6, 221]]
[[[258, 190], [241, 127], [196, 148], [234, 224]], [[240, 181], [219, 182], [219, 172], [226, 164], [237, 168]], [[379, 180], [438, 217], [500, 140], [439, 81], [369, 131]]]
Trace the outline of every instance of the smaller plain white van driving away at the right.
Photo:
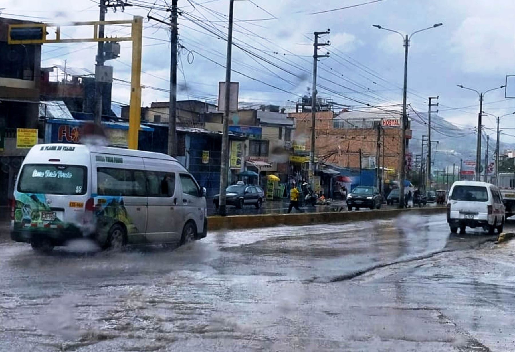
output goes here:
[[447, 222], [451, 232], [465, 227], [483, 227], [489, 233], [503, 232], [505, 208], [499, 189], [487, 182], [457, 181], [447, 201]]

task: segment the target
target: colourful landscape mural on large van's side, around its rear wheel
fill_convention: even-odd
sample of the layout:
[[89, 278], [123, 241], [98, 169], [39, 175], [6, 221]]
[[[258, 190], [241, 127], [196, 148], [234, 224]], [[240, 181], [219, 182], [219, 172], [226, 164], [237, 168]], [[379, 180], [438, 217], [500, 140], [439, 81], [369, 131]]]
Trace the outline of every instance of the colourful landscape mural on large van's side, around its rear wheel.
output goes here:
[[99, 231], [107, 232], [114, 223], [119, 221], [125, 224], [127, 233], [138, 232], [138, 228], [125, 208], [123, 197], [100, 196], [97, 199], [96, 209], [95, 217]]

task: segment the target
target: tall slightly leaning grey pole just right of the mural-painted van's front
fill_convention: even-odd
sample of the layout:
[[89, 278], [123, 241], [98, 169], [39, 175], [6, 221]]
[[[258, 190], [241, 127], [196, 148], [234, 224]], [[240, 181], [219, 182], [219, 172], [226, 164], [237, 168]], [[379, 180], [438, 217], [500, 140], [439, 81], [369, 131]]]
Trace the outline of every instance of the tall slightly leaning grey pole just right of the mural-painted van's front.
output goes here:
[[222, 129], [222, 151], [220, 160], [220, 197], [218, 198], [218, 211], [222, 216], [227, 215], [226, 188], [229, 164], [229, 104], [231, 102], [231, 62], [232, 62], [232, 18], [234, 13], [234, 0], [229, 0], [229, 25], [227, 31], [227, 60], [224, 102], [224, 125]]

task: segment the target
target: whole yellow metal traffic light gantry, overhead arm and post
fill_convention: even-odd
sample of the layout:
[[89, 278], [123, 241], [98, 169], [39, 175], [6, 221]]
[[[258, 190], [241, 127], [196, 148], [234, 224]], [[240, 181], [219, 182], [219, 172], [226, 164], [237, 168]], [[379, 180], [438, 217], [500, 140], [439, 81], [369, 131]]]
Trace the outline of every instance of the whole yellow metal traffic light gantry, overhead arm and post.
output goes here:
[[[130, 37], [115, 38], [98, 38], [98, 26], [130, 24]], [[93, 26], [93, 37], [91, 38], [61, 38], [61, 27], [63, 26]], [[55, 39], [47, 38], [47, 28], [56, 28]], [[41, 39], [22, 39], [11, 40], [11, 29], [13, 28], [41, 28]], [[9, 44], [52, 44], [52, 43], [84, 43], [84, 42], [123, 42], [132, 41], [132, 62], [131, 62], [131, 90], [130, 90], [130, 106], [129, 106], [129, 133], [127, 144], [129, 149], [138, 149], [138, 134], [141, 123], [141, 51], [143, 43], [143, 17], [134, 16], [132, 21], [88, 21], [88, 22], [71, 22], [67, 24], [52, 23], [28, 23], [28, 24], [11, 24], [7, 42]]]

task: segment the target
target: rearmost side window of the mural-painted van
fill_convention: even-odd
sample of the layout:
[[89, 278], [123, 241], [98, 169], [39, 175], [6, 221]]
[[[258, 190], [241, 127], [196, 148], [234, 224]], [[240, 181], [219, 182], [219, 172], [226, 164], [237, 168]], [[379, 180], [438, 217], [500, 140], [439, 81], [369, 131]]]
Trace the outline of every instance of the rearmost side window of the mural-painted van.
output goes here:
[[97, 167], [98, 195], [137, 197], [146, 195], [143, 171]]

